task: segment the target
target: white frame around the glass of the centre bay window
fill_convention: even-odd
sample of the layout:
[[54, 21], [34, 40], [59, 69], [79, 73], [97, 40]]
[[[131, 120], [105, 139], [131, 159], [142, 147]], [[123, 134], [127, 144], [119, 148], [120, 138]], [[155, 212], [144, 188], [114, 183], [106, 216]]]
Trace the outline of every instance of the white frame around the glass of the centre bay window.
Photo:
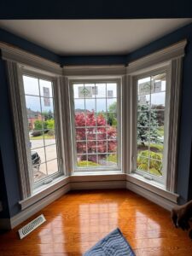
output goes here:
[[[77, 166], [77, 149], [76, 149], [76, 141], [75, 141], [75, 124], [74, 124], [74, 101], [73, 101], [73, 84], [96, 84], [96, 83], [116, 83], [117, 84], [117, 116], [118, 116], [118, 165], [115, 167], [112, 166], [101, 166], [101, 167], [78, 167]], [[71, 112], [71, 134], [72, 134], [72, 155], [73, 155], [73, 174], [76, 173], [113, 173], [113, 172], [122, 172], [121, 166], [121, 79], [69, 79], [69, 92], [70, 92], [70, 112]]]

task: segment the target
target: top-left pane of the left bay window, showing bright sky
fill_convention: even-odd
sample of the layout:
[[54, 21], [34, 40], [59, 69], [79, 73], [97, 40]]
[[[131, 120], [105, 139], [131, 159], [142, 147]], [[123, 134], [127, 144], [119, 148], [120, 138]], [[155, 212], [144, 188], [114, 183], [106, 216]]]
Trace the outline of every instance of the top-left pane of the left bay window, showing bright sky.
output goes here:
[[25, 94], [39, 96], [38, 79], [23, 76], [23, 83]]

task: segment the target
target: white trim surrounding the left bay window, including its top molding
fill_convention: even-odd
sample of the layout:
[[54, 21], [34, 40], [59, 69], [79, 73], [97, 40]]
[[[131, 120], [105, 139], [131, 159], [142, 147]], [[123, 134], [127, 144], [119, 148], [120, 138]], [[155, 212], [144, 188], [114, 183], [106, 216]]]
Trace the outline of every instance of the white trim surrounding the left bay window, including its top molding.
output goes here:
[[[28, 170], [30, 167], [30, 154], [29, 148], [26, 145], [26, 137], [28, 137], [26, 129], [26, 106], [25, 99], [23, 94], [23, 82], [22, 74], [27, 73], [35, 75], [39, 78], [51, 79], [55, 82], [55, 95], [57, 100], [55, 101], [56, 113], [58, 113], [57, 121], [59, 125], [62, 125], [61, 120], [61, 87], [62, 87], [62, 69], [58, 64], [54, 62], [44, 60], [36, 55], [31, 55], [26, 53], [23, 50], [13, 48], [8, 44], [0, 43], [0, 48], [2, 50], [2, 58], [6, 61], [7, 73], [9, 79], [9, 96], [10, 103], [13, 113], [13, 123], [15, 127], [15, 145], [16, 145], [16, 154], [18, 160], [18, 171], [20, 177], [20, 195], [21, 201], [25, 201], [27, 198], [36, 195], [38, 189], [33, 187], [32, 175]], [[62, 131], [62, 129], [61, 129]], [[58, 132], [58, 140], [64, 141], [64, 134]], [[63, 145], [59, 146], [58, 152], [60, 152], [60, 159], [62, 159], [60, 166], [60, 177], [57, 177], [53, 180], [53, 184], [59, 183], [60, 180], [64, 177], [64, 154]], [[55, 176], [56, 177], [56, 176]], [[48, 183], [46, 187], [51, 186], [51, 183]], [[54, 185], [55, 186], [55, 185]], [[43, 188], [44, 186], [42, 186]]]

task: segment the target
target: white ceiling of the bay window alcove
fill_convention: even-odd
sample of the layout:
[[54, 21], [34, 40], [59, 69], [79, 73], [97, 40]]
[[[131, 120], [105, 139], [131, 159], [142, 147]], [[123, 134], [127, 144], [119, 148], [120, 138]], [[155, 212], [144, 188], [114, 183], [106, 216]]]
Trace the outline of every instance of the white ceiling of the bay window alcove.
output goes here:
[[59, 55], [121, 55], [190, 22], [192, 19], [0, 20], [0, 27]]

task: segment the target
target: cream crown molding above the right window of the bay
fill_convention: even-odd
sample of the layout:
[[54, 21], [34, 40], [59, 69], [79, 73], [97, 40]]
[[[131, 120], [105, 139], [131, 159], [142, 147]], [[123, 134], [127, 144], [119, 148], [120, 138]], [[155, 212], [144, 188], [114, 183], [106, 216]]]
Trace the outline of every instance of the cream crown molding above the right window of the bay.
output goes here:
[[147, 67], [165, 65], [166, 62], [172, 61], [179, 57], [183, 57], [184, 49], [187, 44], [187, 39], [184, 39], [177, 44], [172, 44], [169, 47], [155, 51], [153, 54], [146, 55], [137, 61], [132, 61], [126, 67], [127, 74], [138, 73], [138, 70], [143, 70]]

